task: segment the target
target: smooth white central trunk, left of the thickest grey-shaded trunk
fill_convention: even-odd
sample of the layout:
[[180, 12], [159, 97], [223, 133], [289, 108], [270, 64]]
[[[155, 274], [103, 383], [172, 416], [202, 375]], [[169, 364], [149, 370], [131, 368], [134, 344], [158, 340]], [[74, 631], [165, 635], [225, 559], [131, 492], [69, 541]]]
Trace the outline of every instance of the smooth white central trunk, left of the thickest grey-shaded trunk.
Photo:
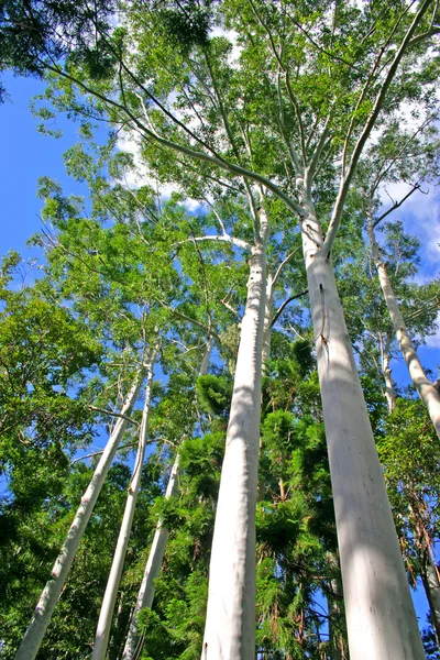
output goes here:
[[202, 660], [255, 659], [255, 504], [267, 218], [252, 248], [209, 568]]

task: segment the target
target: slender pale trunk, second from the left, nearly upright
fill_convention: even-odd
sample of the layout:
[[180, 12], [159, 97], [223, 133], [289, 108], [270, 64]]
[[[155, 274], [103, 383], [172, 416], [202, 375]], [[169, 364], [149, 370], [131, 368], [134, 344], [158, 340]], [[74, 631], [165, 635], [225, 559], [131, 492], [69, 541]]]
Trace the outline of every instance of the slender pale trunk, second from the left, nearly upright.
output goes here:
[[95, 646], [92, 660], [103, 660], [107, 653], [107, 647], [109, 644], [111, 622], [113, 618], [114, 604], [118, 596], [118, 588], [121, 582], [123, 564], [127, 554], [127, 548], [129, 546], [130, 532], [133, 524], [134, 509], [136, 506], [136, 499], [139, 488], [142, 480], [142, 468], [144, 463], [145, 447], [148, 431], [148, 415], [150, 415], [150, 400], [153, 378], [153, 366], [156, 356], [155, 349], [152, 352], [150, 363], [147, 365], [147, 383], [145, 387], [145, 403], [142, 413], [142, 424], [139, 439], [139, 447], [136, 459], [134, 462], [133, 474], [128, 488], [125, 510], [122, 518], [121, 529], [118, 537], [117, 548], [114, 550], [113, 562], [111, 564], [109, 580], [107, 582], [106, 593], [102, 600], [101, 612], [99, 614], [97, 631], [95, 636]]

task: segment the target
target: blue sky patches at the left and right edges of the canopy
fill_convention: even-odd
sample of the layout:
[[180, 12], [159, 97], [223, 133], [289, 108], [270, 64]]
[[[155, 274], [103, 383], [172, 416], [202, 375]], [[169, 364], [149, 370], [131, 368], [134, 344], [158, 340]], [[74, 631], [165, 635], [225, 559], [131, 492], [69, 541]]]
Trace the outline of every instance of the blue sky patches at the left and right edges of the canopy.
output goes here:
[[[67, 120], [57, 119], [57, 128], [63, 138], [55, 140], [41, 135], [36, 131], [37, 120], [32, 117], [30, 99], [41, 94], [44, 86], [32, 78], [4, 76], [4, 85], [10, 100], [0, 106], [3, 127], [3, 156], [0, 160], [0, 187], [3, 209], [3, 222], [0, 233], [0, 254], [18, 250], [23, 256], [31, 253], [26, 240], [41, 229], [38, 213], [42, 200], [36, 198], [37, 179], [41, 176], [55, 178], [65, 194], [85, 195], [80, 184], [66, 176], [62, 163], [63, 153], [78, 140], [77, 125]], [[396, 198], [399, 190], [389, 189]], [[406, 220], [407, 229], [420, 238], [424, 243], [420, 282], [439, 276], [440, 271], [440, 197], [430, 190], [429, 196], [415, 195], [405, 211], [399, 213]], [[428, 340], [420, 350], [425, 364], [437, 374], [439, 364], [440, 332]], [[406, 367], [400, 361], [393, 364], [394, 375], [400, 383], [408, 383]], [[416, 608], [425, 623], [426, 598], [419, 590], [415, 595]]]

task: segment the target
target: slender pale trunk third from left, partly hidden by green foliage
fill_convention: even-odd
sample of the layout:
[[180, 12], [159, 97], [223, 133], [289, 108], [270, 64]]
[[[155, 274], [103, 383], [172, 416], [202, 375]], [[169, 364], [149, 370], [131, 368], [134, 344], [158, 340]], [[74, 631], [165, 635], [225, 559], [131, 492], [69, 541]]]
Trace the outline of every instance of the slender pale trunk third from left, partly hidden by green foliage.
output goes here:
[[[205, 349], [204, 358], [199, 375], [204, 376], [208, 372], [209, 361], [211, 358], [213, 340], [210, 337]], [[178, 475], [179, 454], [177, 453], [169, 475], [168, 485], [166, 487], [165, 498], [169, 499], [176, 495], [177, 491], [177, 475]], [[154, 593], [156, 590], [156, 579], [161, 571], [162, 562], [165, 554], [166, 541], [168, 540], [168, 529], [162, 526], [163, 522], [160, 519], [156, 526], [156, 531], [153, 538], [153, 543], [150, 550], [148, 560], [145, 565], [144, 575], [142, 579], [141, 587], [139, 590], [136, 604], [133, 610], [133, 615], [130, 622], [130, 629], [127, 636], [127, 641], [122, 654], [122, 660], [133, 660], [139, 647], [139, 625], [138, 614], [144, 607], [152, 607]]]

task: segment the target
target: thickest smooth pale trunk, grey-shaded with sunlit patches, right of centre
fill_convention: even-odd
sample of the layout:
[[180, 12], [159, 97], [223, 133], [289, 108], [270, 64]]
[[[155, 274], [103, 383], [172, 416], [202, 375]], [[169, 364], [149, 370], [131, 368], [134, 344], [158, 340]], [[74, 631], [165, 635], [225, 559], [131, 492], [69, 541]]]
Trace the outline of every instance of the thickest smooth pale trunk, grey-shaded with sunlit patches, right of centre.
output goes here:
[[[301, 184], [302, 182], [299, 182]], [[307, 190], [307, 186], [302, 187]], [[351, 660], [424, 660], [384, 477], [322, 233], [304, 194], [302, 249]]]

